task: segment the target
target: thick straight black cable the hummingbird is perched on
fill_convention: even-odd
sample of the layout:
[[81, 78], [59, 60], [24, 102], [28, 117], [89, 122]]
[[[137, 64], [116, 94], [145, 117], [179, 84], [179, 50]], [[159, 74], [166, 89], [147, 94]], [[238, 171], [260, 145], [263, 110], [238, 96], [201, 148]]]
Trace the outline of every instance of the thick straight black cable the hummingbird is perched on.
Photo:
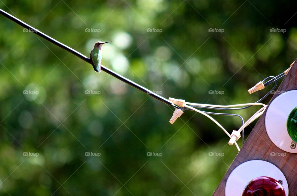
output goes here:
[[[38, 29], [36, 29], [36, 28], [34, 28], [34, 27], [28, 25], [27, 23], [24, 23], [22, 20], [20, 20], [20, 19], [14, 17], [14, 16], [8, 14], [7, 12], [3, 11], [2, 9], [0, 9], [0, 14], [2, 14], [3, 16], [5, 16], [6, 18], [12, 20], [13, 22], [19, 24], [20, 26], [22, 26], [22, 27], [24, 27], [24, 28], [27, 28], [30, 32], [33, 32], [33, 33], [37, 34], [38, 36], [41, 36], [42, 38], [48, 40], [49, 42], [53, 43], [54, 45], [57, 45], [57, 46], [59, 46], [60, 48], [62, 48], [62, 49], [64, 49], [64, 50], [66, 50], [66, 51], [68, 51], [68, 52], [74, 54], [75, 56], [81, 58], [81, 59], [84, 60], [85, 62], [88, 62], [88, 63], [92, 64], [92, 63], [91, 63], [91, 60], [90, 60], [88, 57], [86, 57], [86, 56], [84, 56], [83, 54], [79, 53], [78, 51], [76, 51], [76, 50], [70, 48], [69, 46], [67, 46], [67, 45], [65, 45], [65, 44], [62, 44], [61, 42], [59, 42], [59, 41], [53, 39], [52, 37], [50, 37], [50, 36], [44, 34], [43, 32], [41, 32], [41, 31], [39, 31]], [[170, 100], [168, 100], [168, 99], [166, 99], [166, 98], [164, 98], [164, 97], [162, 97], [162, 96], [160, 96], [160, 95], [157, 95], [156, 93], [150, 91], [149, 89], [147, 89], [147, 88], [145, 88], [145, 87], [143, 87], [143, 86], [141, 86], [141, 85], [139, 85], [139, 84], [137, 84], [137, 83], [135, 83], [135, 82], [133, 82], [133, 81], [131, 81], [131, 80], [125, 78], [125, 77], [123, 77], [122, 75], [119, 75], [118, 73], [116, 73], [116, 72], [114, 72], [114, 71], [108, 69], [107, 67], [101, 65], [101, 69], [102, 69], [103, 71], [105, 71], [106, 73], [108, 73], [108, 74], [114, 76], [115, 78], [117, 78], [117, 79], [119, 79], [119, 80], [121, 80], [121, 81], [123, 81], [123, 82], [129, 84], [130, 86], [132, 86], [132, 87], [134, 87], [134, 88], [137, 88], [138, 90], [140, 90], [140, 91], [142, 91], [142, 92], [148, 94], [149, 96], [151, 96], [151, 97], [153, 97], [153, 98], [155, 98], [155, 99], [157, 99], [157, 100], [159, 100], [159, 101], [161, 101], [161, 102], [163, 102], [163, 103], [165, 103], [165, 104], [168, 104], [168, 105], [170, 105], [170, 106], [173, 106], [173, 107], [175, 107], [175, 108], [180, 109], [178, 106], [174, 105]]]

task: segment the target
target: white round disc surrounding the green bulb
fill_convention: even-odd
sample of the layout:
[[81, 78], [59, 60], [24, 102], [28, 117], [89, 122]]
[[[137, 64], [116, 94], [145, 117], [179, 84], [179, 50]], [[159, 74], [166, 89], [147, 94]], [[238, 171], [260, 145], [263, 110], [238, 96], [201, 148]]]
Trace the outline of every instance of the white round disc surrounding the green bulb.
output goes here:
[[297, 153], [297, 147], [291, 149], [292, 138], [287, 131], [287, 119], [296, 106], [297, 90], [287, 91], [271, 102], [265, 116], [265, 128], [270, 140], [290, 153]]

